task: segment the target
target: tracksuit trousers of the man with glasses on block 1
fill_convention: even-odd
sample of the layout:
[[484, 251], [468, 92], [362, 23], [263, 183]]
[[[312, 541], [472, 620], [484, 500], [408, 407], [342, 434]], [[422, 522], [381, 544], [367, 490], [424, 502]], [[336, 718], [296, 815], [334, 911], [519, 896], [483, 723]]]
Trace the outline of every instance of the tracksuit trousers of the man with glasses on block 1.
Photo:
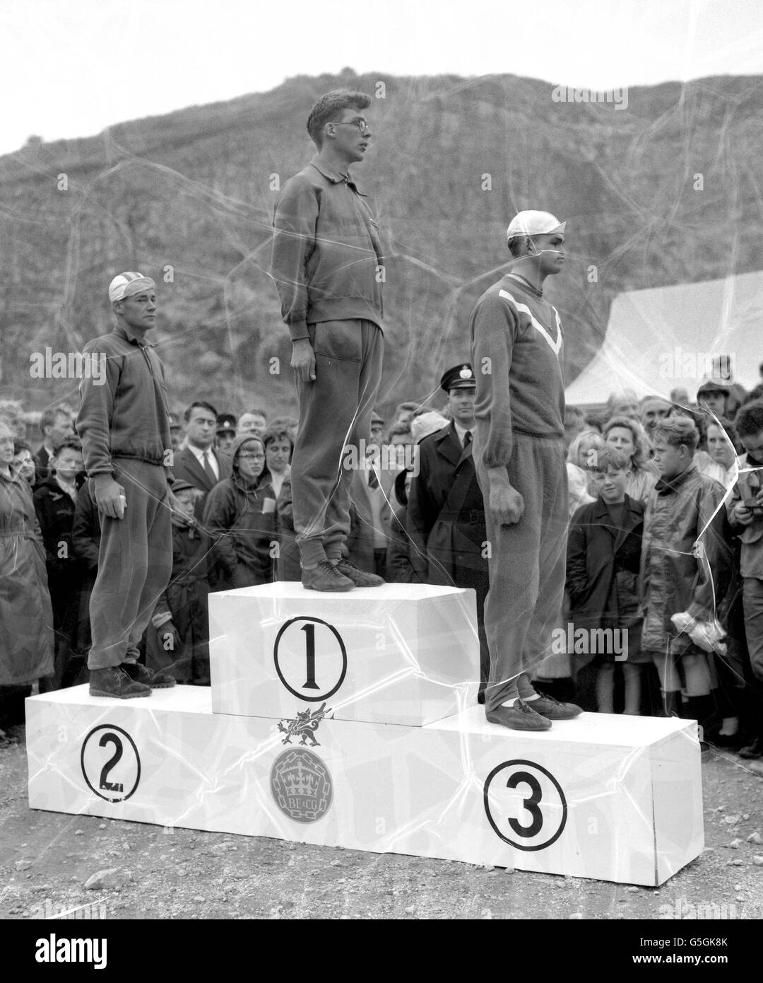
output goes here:
[[[297, 382], [300, 423], [292, 455], [294, 527], [302, 566], [339, 559], [350, 533], [350, 483], [360, 438], [371, 434], [384, 336], [370, 320], [308, 324], [315, 380]], [[355, 456], [345, 454], [345, 447]], [[362, 462], [359, 462], [362, 463]]]

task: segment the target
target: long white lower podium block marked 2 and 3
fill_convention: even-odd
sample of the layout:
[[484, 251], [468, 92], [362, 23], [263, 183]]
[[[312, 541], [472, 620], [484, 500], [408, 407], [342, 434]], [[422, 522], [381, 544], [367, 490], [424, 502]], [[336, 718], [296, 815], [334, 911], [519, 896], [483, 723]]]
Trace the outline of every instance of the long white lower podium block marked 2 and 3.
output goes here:
[[80, 686], [27, 700], [27, 755], [29, 805], [76, 815], [649, 886], [704, 845], [696, 724], [676, 719], [312, 726], [213, 714], [202, 688]]

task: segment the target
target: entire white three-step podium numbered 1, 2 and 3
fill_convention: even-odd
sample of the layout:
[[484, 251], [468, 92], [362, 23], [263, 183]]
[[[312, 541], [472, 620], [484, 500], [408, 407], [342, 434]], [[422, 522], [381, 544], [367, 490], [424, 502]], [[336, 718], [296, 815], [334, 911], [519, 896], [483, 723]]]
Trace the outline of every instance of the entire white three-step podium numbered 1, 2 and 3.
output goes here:
[[703, 849], [696, 724], [487, 723], [471, 591], [209, 605], [210, 688], [27, 700], [31, 808], [648, 886]]

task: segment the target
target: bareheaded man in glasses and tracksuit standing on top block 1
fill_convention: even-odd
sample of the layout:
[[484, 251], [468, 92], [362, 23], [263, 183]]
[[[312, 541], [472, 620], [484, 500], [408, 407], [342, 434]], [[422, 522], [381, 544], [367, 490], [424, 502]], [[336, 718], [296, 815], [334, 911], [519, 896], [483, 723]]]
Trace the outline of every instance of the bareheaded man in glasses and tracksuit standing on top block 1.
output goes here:
[[315, 591], [376, 587], [381, 577], [343, 558], [350, 481], [343, 466], [370, 437], [381, 380], [384, 258], [366, 196], [349, 172], [371, 131], [363, 92], [338, 89], [310, 110], [318, 152], [275, 205], [273, 279], [292, 338], [300, 422], [292, 459], [302, 585]]

